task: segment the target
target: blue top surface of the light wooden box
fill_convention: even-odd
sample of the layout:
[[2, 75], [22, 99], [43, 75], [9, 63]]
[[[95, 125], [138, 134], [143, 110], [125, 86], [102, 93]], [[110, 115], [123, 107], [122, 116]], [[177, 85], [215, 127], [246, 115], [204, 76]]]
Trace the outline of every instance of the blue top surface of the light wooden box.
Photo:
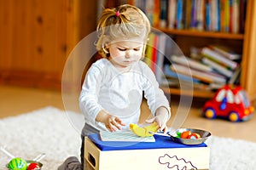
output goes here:
[[99, 134], [90, 134], [88, 138], [96, 146], [104, 150], [147, 150], [147, 149], [166, 149], [166, 148], [195, 148], [207, 147], [207, 144], [186, 145], [172, 141], [170, 137], [154, 135], [155, 142], [109, 142], [102, 141]]

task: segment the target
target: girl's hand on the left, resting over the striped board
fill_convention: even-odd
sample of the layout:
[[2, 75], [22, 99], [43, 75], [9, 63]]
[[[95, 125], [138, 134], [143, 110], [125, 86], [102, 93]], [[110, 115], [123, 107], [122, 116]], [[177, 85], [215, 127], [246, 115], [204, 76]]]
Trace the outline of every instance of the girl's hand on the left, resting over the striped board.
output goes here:
[[100, 111], [96, 116], [96, 121], [104, 123], [110, 132], [121, 130], [121, 127], [125, 126], [119, 117], [109, 115], [106, 111]]

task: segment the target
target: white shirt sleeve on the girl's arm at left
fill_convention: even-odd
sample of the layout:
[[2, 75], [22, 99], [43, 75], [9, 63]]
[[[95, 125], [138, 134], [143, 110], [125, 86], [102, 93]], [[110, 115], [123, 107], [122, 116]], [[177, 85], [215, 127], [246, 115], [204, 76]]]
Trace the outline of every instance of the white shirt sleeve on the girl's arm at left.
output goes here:
[[102, 110], [97, 98], [101, 81], [101, 69], [96, 65], [91, 65], [87, 71], [79, 96], [79, 107], [85, 116], [85, 120], [92, 123], [96, 122], [96, 116]]

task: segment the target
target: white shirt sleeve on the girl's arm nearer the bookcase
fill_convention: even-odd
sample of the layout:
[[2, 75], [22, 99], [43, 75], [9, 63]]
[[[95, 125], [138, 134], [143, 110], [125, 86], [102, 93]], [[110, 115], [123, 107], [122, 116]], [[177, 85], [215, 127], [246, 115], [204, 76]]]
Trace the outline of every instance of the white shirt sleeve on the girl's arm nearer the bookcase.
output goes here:
[[171, 108], [168, 99], [163, 90], [159, 88], [159, 83], [156, 81], [154, 72], [148, 65], [142, 65], [143, 69], [143, 91], [144, 97], [147, 99], [148, 108], [155, 116], [155, 111], [160, 107], [166, 107], [168, 111], [168, 120], [171, 117]]

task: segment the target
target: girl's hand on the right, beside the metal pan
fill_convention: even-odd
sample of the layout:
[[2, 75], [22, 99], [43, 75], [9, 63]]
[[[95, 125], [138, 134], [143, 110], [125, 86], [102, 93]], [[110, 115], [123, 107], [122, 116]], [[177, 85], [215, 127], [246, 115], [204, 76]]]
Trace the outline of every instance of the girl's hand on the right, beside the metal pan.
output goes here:
[[146, 120], [148, 123], [158, 122], [160, 126], [160, 131], [167, 132], [166, 122], [168, 121], [168, 111], [165, 107], [160, 107], [156, 110], [156, 116], [151, 119]]

